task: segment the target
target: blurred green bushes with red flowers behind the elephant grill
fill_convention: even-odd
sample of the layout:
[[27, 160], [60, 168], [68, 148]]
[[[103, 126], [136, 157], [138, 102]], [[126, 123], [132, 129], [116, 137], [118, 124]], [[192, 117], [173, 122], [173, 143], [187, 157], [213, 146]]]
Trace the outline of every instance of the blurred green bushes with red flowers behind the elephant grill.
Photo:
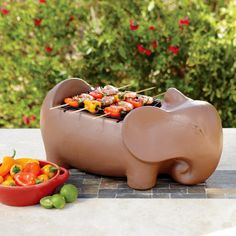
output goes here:
[[[176, 87], [236, 127], [235, 1], [9, 1], [0, 8], [9, 10], [0, 13], [0, 127], [39, 127], [47, 91], [69, 77], [156, 86], [150, 95]], [[35, 121], [22, 119], [32, 115]]]

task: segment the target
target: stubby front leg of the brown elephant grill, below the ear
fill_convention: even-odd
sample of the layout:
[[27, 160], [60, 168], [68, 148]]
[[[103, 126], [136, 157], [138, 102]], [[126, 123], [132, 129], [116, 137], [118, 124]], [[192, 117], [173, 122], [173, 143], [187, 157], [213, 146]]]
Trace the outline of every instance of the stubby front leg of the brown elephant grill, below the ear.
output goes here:
[[156, 185], [157, 174], [157, 166], [146, 166], [146, 164], [139, 168], [134, 166], [127, 171], [127, 184], [134, 189], [150, 189]]

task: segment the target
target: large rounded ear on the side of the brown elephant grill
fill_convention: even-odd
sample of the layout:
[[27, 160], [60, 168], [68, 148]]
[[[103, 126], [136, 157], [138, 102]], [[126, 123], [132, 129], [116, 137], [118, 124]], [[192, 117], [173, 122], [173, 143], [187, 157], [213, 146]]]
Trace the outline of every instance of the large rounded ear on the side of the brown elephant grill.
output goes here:
[[[171, 144], [181, 127], [175, 124], [170, 112], [157, 107], [141, 107], [131, 111], [124, 119], [122, 136], [128, 150], [145, 162], [160, 162], [180, 153]], [[178, 128], [179, 127], [179, 128]]]

